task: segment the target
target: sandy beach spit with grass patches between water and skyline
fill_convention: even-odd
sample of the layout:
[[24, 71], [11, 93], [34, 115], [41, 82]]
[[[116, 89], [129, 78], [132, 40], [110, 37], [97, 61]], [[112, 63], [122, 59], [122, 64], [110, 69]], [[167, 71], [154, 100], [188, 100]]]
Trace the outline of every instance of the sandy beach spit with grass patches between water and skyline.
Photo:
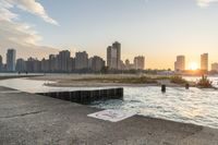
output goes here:
[[[53, 87], [110, 87], [110, 86], [161, 86], [185, 87], [185, 84], [171, 83], [167, 76], [156, 75], [44, 75], [31, 77], [29, 80], [47, 81], [46, 86]], [[49, 83], [51, 82], [51, 83]], [[194, 86], [189, 82], [190, 87]]]

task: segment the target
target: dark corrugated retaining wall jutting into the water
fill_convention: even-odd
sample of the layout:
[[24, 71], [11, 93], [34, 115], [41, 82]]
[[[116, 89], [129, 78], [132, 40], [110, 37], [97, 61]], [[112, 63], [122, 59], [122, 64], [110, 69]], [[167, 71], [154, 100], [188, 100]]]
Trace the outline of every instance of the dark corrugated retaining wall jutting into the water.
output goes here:
[[44, 95], [77, 104], [89, 105], [90, 102], [98, 100], [122, 99], [123, 88], [75, 90], [75, 92], [51, 92], [51, 93], [37, 93], [37, 95]]

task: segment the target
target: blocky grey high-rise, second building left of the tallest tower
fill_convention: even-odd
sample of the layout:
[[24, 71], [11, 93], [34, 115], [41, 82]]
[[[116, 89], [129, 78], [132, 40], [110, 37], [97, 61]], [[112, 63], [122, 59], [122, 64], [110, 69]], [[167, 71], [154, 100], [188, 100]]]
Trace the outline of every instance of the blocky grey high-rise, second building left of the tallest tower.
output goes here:
[[75, 70], [88, 69], [88, 55], [86, 51], [75, 53]]

